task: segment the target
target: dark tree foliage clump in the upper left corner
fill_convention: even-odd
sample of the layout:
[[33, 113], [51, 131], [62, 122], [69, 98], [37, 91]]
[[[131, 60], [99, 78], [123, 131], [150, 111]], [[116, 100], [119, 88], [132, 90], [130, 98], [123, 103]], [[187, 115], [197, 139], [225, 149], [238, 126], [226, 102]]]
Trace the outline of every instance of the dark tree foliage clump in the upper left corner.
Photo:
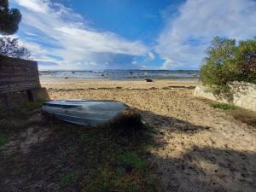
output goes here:
[[9, 1], [0, 1], [0, 34], [12, 35], [19, 29], [21, 14], [19, 9], [9, 9]]

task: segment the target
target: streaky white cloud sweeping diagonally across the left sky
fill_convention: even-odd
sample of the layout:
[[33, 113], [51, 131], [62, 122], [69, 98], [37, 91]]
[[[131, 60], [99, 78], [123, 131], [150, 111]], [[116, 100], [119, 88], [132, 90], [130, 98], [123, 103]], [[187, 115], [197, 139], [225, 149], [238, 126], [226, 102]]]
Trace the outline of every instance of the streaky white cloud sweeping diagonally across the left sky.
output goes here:
[[99, 62], [104, 66], [112, 55], [148, 54], [148, 47], [140, 41], [129, 41], [113, 32], [98, 32], [88, 26], [81, 15], [60, 3], [49, 0], [14, 2], [22, 14], [21, 27], [34, 38], [33, 42], [22, 37], [21, 40], [38, 61], [54, 61], [61, 67], [96, 67]]

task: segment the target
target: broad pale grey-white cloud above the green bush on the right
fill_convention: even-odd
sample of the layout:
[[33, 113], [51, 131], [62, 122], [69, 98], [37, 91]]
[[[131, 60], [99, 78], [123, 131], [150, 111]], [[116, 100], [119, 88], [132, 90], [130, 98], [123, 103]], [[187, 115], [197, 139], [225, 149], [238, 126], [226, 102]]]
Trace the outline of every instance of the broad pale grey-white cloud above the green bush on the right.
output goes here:
[[253, 0], [187, 0], [169, 17], [155, 48], [166, 60], [162, 68], [197, 68], [214, 36], [241, 40], [256, 32]]

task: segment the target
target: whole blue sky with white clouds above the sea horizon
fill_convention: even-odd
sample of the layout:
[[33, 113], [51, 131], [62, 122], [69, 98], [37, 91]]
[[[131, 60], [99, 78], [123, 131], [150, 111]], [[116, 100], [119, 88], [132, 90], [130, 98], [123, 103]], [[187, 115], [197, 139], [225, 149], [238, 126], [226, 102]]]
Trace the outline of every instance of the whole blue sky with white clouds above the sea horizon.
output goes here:
[[39, 69], [198, 69], [214, 36], [256, 36], [254, 0], [12, 0]]

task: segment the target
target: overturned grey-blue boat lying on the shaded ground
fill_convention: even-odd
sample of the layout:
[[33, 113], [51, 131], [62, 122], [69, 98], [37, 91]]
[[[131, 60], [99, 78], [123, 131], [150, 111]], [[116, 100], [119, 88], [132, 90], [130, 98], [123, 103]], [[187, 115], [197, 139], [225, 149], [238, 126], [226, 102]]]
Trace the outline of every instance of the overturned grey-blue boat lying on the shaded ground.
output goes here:
[[44, 102], [44, 114], [78, 125], [97, 125], [113, 119], [129, 107], [122, 102], [56, 100]]

